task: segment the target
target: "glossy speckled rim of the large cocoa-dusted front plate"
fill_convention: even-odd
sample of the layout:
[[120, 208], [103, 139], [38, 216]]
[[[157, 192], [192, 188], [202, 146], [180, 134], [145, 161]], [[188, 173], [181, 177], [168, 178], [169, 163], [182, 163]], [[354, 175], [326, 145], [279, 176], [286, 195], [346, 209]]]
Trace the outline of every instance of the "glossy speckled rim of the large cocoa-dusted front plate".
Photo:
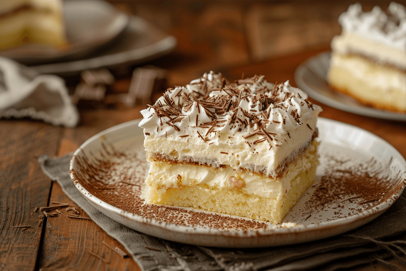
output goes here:
[[[403, 190], [405, 188], [405, 185], [406, 185], [405, 182], [404, 182], [402, 187], [397, 191], [397, 193], [393, 194], [389, 199], [387, 199], [387, 201], [382, 202], [378, 206], [375, 206], [373, 208], [365, 210], [364, 212], [358, 213], [356, 215], [352, 215], [350, 217], [343, 217], [343, 218], [339, 218], [339, 219], [334, 219], [332, 221], [322, 221], [322, 222], [314, 223], [314, 224], [311, 224], [311, 225], [298, 225], [298, 226], [292, 227], [292, 228], [273, 228], [273, 229], [267, 229], [266, 228], [266, 229], [253, 229], [253, 230], [234, 230], [234, 229], [232, 229], [232, 230], [220, 230], [220, 229], [184, 226], [184, 225], [178, 225], [178, 224], [175, 224], [175, 223], [167, 223], [167, 222], [164, 222], [164, 221], [159, 221], [159, 220], [156, 220], [156, 219], [149, 219], [149, 218], [146, 218], [146, 217], [143, 217], [143, 216], [140, 216], [140, 215], [133, 214], [131, 212], [124, 211], [124, 210], [122, 210], [122, 209], [120, 209], [120, 208], [118, 208], [116, 206], [112, 206], [112, 205], [108, 204], [107, 202], [104, 202], [103, 200], [101, 200], [101, 199], [95, 197], [94, 195], [92, 195], [87, 189], [84, 188], [84, 186], [82, 186], [82, 184], [80, 183], [80, 181], [76, 177], [75, 169], [73, 168], [74, 163], [76, 162], [76, 157], [78, 156], [78, 154], [80, 154], [80, 152], [83, 151], [83, 149], [86, 147], [86, 145], [93, 142], [95, 139], [102, 138], [104, 135], [106, 135], [106, 134], [108, 134], [110, 132], [116, 132], [117, 130], [127, 128], [129, 126], [137, 125], [140, 120], [141, 119], [134, 119], [134, 120], [131, 120], [131, 121], [124, 122], [122, 124], [118, 124], [116, 126], [112, 126], [112, 127], [108, 128], [106, 130], [103, 130], [102, 132], [99, 132], [99, 133], [95, 134], [93, 137], [86, 140], [74, 152], [74, 154], [73, 154], [73, 156], [72, 156], [72, 158], [70, 160], [70, 163], [69, 163], [69, 174], [70, 174], [70, 177], [71, 177], [74, 185], [76, 186], [76, 188], [95, 207], [99, 206], [100, 208], [107, 208], [107, 209], [109, 209], [109, 211], [114, 212], [116, 215], [119, 215], [119, 216], [123, 217], [124, 219], [130, 219], [130, 220], [132, 220], [132, 221], [134, 221], [136, 223], [141, 223], [141, 224], [148, 225], [148, 226], [158, 227], [158, 228], [160, 228], [162, 230], [165, 230], [165, 231], [169, 230], [170, 232], [173, 232], [174, 234], [180, 234], [180, 233], [185, 233], [186, 232], [188, 234], [194, 234], [194, 235], [199, 235], [200, 234], [200, 235], [211, 235], [211, 236], [233, 237], [233, 238], [235, 238], [235, 237], [238, 237], [238, 238], [253, 238], [254, 237], [254, 238], [256, 238], [258, 235], [260, 235], [260, 236], [268, 236], [269, 237], [269, 236], [292, 234], [292, 233], [296, 233], [296, 232], [300, 232], [301, 234], [306, 234], [308, 232], [313, 232], [313, 231], [317, 231], [317, 230], [335, 228], [335, 227], [338, 227], [338, 226], [343, 226], [343, 225], [348, 225], [348, 224], [351, 225], [352, 223], [356, 223], [356, 222], [361, 221], [361, 219], [368, 219], [369, 217], [372, 217], [372, 219], [375, 219], [378, 215], [381, 215], [384, 211], [386, 211], [396, 201], [397, 198], [400, 197], [400, 195], [402, 194], [402, 192], [403, 192]], [[336, 120], [328, 119], [328, 118], [324, 118], [324, 117], [319, 117], [317, 119], [317, 121], [332, 123], [332, 125], [349, 126], [352, 129], [360, 130], [360, 132], [365, 132], [365, 133], [369, 134], [370, 136], [375, 137], [376, 139], [378, 139], [382, 143], [385, 143], [388, 146], [390, 146], [398, 154], [399, 158], [402, 158], [402, 159], [400, 159], [400, 163], [402, 163], [402, 165], [406, 168], [406, 160], [404, 159], [402, 154], [400, 154], [400, 152], [398, 150], [396, 150], [396, 148], [393, 147], [390, 143], [388, 143], [387, 141], [385, 141], [381, 137], [378, 137], [376, 134], [374, 134], [372, 132], [369, 132], [369, 131], [367, 131], [367, 130], [365, 130], [363, 128], [360, 128], [358, 126], [354, 126], [354, 125], [351, 125], [351, 124], [347, 124], [347, 123], [344, 123], [344, 122], [341, 122], [341, 121], [336, 121]], [[199, 211], [199, 210], [197, 210], [197, 211]], [[367, 223], [369, 221], [370, 220], [366, 221], [365, 223]], [[364, 225], [365, 223], [362, 223], [360, 225]], [[357, 227], [359, 227], [360, 225], [358, 225]], [[338, 234], [333, 234], [333, 235], [329, 235], [329, 236], [335, 236], [335, 235], [338, 235]], [[323, 237], [323, 238], [326, 238], [326, 236]], [[317, 240], [317, 239], [312, 239], [312, 240], [309, 240], [309, 241], [313, 241], [313, 240]], [[172, 240], [172, 241], [181, 242], [179, 240]], [[301, 242], [298, 242], [298, 243], [301, 243]], [[251, 247], [259, 247], [259, 246], [251, 246]], [[261, 246], [261, 247], [263, 247], [263, 246]]]

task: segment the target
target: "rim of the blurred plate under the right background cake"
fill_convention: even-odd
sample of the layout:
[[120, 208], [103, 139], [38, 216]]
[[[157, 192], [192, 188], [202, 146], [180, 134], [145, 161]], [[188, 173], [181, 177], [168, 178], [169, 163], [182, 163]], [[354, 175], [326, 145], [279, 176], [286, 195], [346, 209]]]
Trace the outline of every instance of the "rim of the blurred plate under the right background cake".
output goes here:
[[[352, 106], [350, 104], [346, 104], [344, 102], [335, 100], [333, 98], [329, 98], [325, 95], [322, 95], [322, 93], [319, 93], [315, 90], [313, 90], [309, 85], [306, 84], [304, 81], [304, 73], [307, 71], [311, 71], [309, 69], [309, 63], [315, 61], [318, 58], [324, 57], [327, 54], [331, 54], [331, 51], [324, 51], [319, 54], [316, 54], [315, 56], [311, 56], [310, 58], [306, 59], [302, 63], [299, 64], [298, 67], [296, 67], [295, 72], [294, 72], [294, 80], [296, 82], [296, 85], [305, 91], [311, 98], [316, 100], [317, 102], [321, 102], [323, 104], [326, 104], [328, 106], [334, 107], [336, 109], [354, 113], [357, 115], [362, 115], [362, 116], [367, 116], [367, 117], [375, 117], [377, 119], [389, 119], [389, 120], [394, 120], [394, 121], [406, 121], [406, 114], [400, 114], [400, 113], [393, 113], [390, 111], [384, 111], [378, 108], [372, 108], [369, 106], [364, 106], [363, 104], [359, 104], [359, 107]], [[317, 76], [319, 77], [319, 76]], [[326, 82], [326, 80], [324, 80]]]

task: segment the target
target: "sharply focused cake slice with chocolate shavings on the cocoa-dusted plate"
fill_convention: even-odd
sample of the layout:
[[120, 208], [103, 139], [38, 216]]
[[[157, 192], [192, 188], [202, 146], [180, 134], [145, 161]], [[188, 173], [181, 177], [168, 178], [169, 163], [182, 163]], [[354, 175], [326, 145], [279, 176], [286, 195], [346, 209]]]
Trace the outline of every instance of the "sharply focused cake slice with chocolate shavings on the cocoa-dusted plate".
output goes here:
[[141, 198], [280, 223], [315, 179], [320, 106], [289, 81], [206, 73], [141, 111]]

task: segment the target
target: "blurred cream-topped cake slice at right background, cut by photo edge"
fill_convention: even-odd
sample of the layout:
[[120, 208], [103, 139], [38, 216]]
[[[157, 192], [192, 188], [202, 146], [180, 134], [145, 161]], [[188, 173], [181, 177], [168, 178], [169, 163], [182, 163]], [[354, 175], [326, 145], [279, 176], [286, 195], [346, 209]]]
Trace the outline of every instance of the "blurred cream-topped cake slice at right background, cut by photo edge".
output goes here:
[[364, 104], [406, 112], [406, 11], [392, 2], [363, 12], [353, 4], [338, 19], [327, 80]]

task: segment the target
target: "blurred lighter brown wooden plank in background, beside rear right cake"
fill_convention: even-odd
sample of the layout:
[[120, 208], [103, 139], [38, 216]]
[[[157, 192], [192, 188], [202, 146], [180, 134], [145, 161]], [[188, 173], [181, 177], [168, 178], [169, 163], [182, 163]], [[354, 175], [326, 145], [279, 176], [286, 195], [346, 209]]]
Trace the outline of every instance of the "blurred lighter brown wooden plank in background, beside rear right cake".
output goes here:
[[330, 2], [252, 5], [244, 24], [253, 59], [287, 55], [330, 43], [341, 32], [337, 18], [347, 8], [347, 3]]

